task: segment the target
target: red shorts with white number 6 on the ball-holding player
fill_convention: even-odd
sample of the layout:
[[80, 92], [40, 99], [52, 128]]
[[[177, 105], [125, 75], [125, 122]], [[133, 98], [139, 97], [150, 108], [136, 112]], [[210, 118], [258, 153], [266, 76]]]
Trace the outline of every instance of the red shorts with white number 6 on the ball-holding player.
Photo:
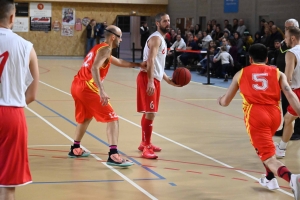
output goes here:
[[147, 72], [140, 72], [137, 76], [137, 111], [156, 113], [158, 111], [160, 97], [160, 82], [154, 79], [154, 94], [147, 95], [148, 76]]

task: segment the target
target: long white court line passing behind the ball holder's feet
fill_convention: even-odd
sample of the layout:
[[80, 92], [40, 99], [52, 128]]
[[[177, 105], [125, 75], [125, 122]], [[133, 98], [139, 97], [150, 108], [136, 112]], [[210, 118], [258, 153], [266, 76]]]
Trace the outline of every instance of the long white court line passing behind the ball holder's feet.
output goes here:
[[[56, 87], [50, 86], [49, 84], [46, 84], [46, 83], [44, 83], [44, 82], [42, 82], [42, 81], [40, 81], [40, 82], [41, 82], [42, 84], [45, 84], [45, 85], [47, 85], [47, 86], [49, 86], [49, 87], [55, 89], [55, 90], [61, 91], [61, 92], [65, 93], [65, 94], [68, 94], [68, 95], [71, 96], [71, 94], [66, 93], [65, 91], [62, 91], [62, 90], [60, 90], [60, 89], [58, 89], [58, 88], [56, 88]], [[132, 122], [132, 121], [130, 121], [130, 120], [128, 120], [128, 119], [125, 119], [124, 117], [121, 117], [121, 116], [119, 116], [119, 115], [118, 115], [118, 117], [119, 117], [120, 119], [123, 119], [124, 121], [126, 121], [126, 122], [128, 122], [128, 123], [134, 125], [134, 126], [137, 126], [137, 127], [141, 128], [140, 125], [138, 125], [138, 124], [136, 124], [136, 123], [134, 123], [134, 122]], [[155, 134], [155, 135], [157, 135], [158, 137], [161, 137], [161, 138], [163, 138], [163, 139], [165, 139], [165, 140], [168, 140], [169, 142], [172, 142], [172, 143], [174, 143], [174, 144], [177, 144], [178, 146], [181, 146], [181, 147], [183, 147], [183, 148], [185, 148], [185, 149], [187, 149], [187, 150], [190, 150], [190, 151], [192, 151], [192, 152], [194, 152], [194, 153], [196, 153], [196, 154], [198, 154], [198, 155], [201, 155], [201, 156], [203, 156], [203, 157], [205, 157], [205, 158], [207, 158], [207, 159], [209, 159], [209, 160], [211, 160], [211, 161], [214, 161], [214, 162], [216, 162], [216, 163], [219, 163], [220, 165], [223, 165], [223, 166], [225, 166], [225, 167], [227, 167], [227, 168], [230, 168], [230, 169], [233, 169], [233, 168], [234, 168], [234, 167], [232, 167], [232, 166], [230, 166], [230, 165], [227, 165], [226, 163], [223, 163], [223, 162], [221, 162], [221, 161], [219, 161], [219, 160], [217, 160], [217, 159], [214, 159], [214, 158], [212, 158], [212, 157], [210, 157], [210, 156], [208, 156], [208, 155], [205, 155], [205, 154], [203, 154], [203, 153], [201, 153], [201, 152], [199, 152], [199, 151], [196, 151], [196, 150], [194, 150], [194, 149], [192, 149], [192, 148], [190, 148], [190, 147], [188, 147], [188, 146], [185, 146], [185, 145], [183, 145], [183, 144], [181, 144], [181, 143], [179, 143], [179, 142], [176, 142], [176, 141], [174, 141], [174, 140], [172, 140], [172, 139], [170, 139], [170, 138], [168, 138], [168, 137], [165, 137], [165, 136], [163, 136], [163, 135], [161, 135], [161, 134], [159, 134], [159, 133], [156, 133], [156, 132], [154, 132], [154, 131], [153, 131], [152, 133]], [[73, 141], [73, 140], [72, 140], [72, 141]], [[250, 174], [248, 174], [248, 173], [246, 173], [246, 172], [243, 172], [243, 171], [240, 171], [240, 170], [234, 170], [234, 171], [236, 171], [236, 172], [238, 172], [238, 173], [240, 173], [240, 174], [243, 174], [243, 175], [245, 175], [245, 176], [247, 176], [247, 177], [249, 177], [249, 178], [251, 178], [251, 179], [253, 179], [253, 180], [257, 181], [257, 182], [259, 182], [259, 179], [258, 179], [258, 178], [254, 177], [254, 176], [252, 176], [252, 175], [250, 175]], [[280, 192], [282, 192], [282, 193], [284, 193], [284, 194], [286, 194], [286, 195], [289, 195], [289, 196], [291, 196], [291, 197], [294, 197], [293, 194], [291, 194], [291, 193], [289, 193], [289, 192], [287, 192], [287, 191], [285, 191], [285, 190], [278, 189], [277, 191], [280, 191]]]

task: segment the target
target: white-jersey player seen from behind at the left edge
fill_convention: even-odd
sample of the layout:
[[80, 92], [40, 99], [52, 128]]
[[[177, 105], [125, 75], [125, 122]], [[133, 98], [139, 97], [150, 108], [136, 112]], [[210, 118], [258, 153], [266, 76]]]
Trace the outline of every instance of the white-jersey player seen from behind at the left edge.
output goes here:
[[13, 0], [0, 0], [0, 200], [31, 183], [24, 107], [34, 101], [39, 70], [32, 43], [12, 32]]

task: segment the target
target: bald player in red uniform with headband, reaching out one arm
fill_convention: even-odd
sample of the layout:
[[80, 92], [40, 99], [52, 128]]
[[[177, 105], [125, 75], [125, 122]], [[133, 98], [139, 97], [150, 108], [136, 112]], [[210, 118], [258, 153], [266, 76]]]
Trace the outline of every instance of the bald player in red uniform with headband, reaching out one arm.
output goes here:
[[116, 26], [108, 26], [105, 30], [105, 42], [96, 45], [87, 54], [84, 62], [74, 77], [71, 94], [75, 101], [77, 127], [74, 144], [71, 146], [69, 157], [86, 157], [90, 152], [80, 148], [80, 141], [94, 117], [98, 122], [107, 123], [107, 139], [110, 147], [108, 165], [130, 166], [133, 163], [121, 158], [117, 144], [119, 138], [118, 115], [109, 103], [109, 96], [104, 91], [103, 80], [108, 73], [110, 64], [129, 67], [146, 67], [146, 62], [132, 63], [115, 58], [112, 49], [122, 41], [122, 32]]

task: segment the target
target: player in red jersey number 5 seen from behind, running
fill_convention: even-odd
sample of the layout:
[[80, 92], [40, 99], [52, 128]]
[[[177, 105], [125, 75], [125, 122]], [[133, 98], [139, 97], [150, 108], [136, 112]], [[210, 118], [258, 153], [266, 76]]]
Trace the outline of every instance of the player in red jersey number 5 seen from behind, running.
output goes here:
[[276, 159], [272, 136], [281, 122], [280, 88], [295, 112], [300, 114], [300, 103], [290, 88], [285, 74], [267, 66], [268, 50], [262, 44], [249, 49], [250, 66], [236, 73], [232, 83], [218, 101], [228, 106], [238, 89], [243, 97], [244, 120], [251, 143], [266, 168], [266, 176], [259, 183], [270, 189], [279, 189], [275, 175], [290, 183], [296, 200], [300, 200], [300, 175], [292, 174]]

